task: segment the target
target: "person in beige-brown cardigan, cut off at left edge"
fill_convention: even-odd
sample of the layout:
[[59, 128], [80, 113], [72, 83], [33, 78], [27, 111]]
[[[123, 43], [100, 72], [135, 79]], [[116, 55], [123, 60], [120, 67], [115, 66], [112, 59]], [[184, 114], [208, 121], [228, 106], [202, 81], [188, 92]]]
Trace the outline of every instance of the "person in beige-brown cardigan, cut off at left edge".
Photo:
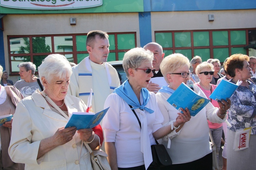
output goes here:
[[[0, 77], [3, 67], [0, 65]], [[14, 86], [0, 85], [0, 116], [13, 115], [15, 108], [20, 100], [24, 97]], [[3, 123], [0, 126], [0, 169], [24, 169], [24, 164], [14, 163], [9, 154], [8, 148], [10, 145], [12, 130], [12, 120]]]

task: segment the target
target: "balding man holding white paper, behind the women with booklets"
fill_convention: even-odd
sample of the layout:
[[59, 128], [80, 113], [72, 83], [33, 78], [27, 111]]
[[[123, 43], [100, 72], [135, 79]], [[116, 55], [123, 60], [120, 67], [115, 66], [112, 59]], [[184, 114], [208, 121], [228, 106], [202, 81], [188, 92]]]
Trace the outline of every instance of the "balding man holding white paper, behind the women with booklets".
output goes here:
[[[168, 85], [165, 82], [163, 75], [161, 73], [161, 70], [160, 70], [160, 64], [163, 60], [163, 57], [165, 56], [165, 53], [163, 53], [162, 46], [160, 46], [157, 43], [148, 43], [143, 48], [145, 50], [150, 50], [154, 54], [154, 60], [153, 60], [152, 65], [153, 65], [153, 69], [156, 69], [156, 72], [154, 73], [153, 77], [151, 78], [151, 82], [148, 84], [147, 89], [156, 94], [158, 92], [158, 90], [162, 87], [162, 85]], [[157, 81], [155, 82], [153, 78], [157, 78], [157, 77], [162, 77], [163, 79], [161, 82], [163, 82], [164, 84], [159, 81], [160, 79], [156, 79]]]

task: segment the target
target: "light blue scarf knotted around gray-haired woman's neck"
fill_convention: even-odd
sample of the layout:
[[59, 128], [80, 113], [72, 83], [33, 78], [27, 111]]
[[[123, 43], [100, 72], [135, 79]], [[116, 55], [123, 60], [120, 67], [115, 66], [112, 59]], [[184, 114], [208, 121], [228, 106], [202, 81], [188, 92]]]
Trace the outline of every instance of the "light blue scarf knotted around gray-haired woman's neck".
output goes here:
[[139, 102], [137, 96], [135, 95], [134, 91], [132, 90], [131, 85], [128, 80], [126, 80], [121, 86], [115, 88], [113, 93], [116, 93], [121, 98], [123, 98], [126, 103], [133, 106], [132, 109], [140, 108], [141, 110], [144, 109], [148, 113], [153, 113], [154, 112], [153, 110], [145, 107], [145, 105], [147, 105], [148, 101], [150, 100], [149, 91], [146, 88], [142, 88], [140, 92], [143, 97], [142, 105], [140, 105], [140, 102]]

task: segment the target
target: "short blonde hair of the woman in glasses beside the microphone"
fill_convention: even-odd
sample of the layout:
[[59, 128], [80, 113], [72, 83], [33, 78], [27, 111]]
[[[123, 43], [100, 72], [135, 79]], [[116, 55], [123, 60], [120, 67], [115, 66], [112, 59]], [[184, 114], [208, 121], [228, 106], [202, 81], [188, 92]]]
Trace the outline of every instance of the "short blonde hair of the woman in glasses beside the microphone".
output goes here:
[[189, 68], [189, 65], [190, 63], [187, 57], [185, 57], [183, 54], [174, 53], [163, 58], [163, 61], [160, 64], [160, 70], [166, 82], [168, 83], [166, 78], [167, 74], [174, 73], [175, 70], [184, 66], [188, 66]]

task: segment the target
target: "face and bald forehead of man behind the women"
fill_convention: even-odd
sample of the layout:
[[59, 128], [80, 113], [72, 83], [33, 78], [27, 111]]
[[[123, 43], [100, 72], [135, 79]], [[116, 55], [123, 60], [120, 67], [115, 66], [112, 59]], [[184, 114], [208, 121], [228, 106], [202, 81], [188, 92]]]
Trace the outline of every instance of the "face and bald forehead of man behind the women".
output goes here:
[[154, 54], [154, 60], [153, 60], [153, 69], [156, 69], [158, 71], [160, 69], [160, 64], [163, 60], [163, 57], [165, 56], [165, 53], [162, 53], [160, 47], [155, 44], [150, 44], [145, 47], [145, 50], [150, 50]]

